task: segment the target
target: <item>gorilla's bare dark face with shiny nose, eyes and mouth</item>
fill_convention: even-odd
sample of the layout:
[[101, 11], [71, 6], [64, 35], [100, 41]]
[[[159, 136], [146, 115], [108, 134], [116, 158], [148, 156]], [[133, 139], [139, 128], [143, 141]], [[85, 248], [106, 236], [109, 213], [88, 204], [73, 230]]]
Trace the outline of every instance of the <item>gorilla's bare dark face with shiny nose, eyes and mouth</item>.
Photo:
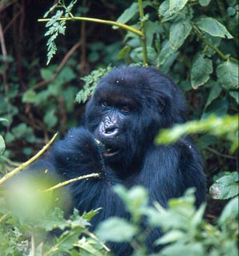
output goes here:
[[103, 90], [95, 91], [95, 98], [100, 109], [99, 125], [95, 128], [95, 137], [105, 146], [103, 157], [119, 158], [125, 155], [128, 147], [129, 133], [135, 132], [132, 129], [132, 120], [139, 112], [137, 104], [127, 95], [116, 95], [115, 91], [107, 93]]

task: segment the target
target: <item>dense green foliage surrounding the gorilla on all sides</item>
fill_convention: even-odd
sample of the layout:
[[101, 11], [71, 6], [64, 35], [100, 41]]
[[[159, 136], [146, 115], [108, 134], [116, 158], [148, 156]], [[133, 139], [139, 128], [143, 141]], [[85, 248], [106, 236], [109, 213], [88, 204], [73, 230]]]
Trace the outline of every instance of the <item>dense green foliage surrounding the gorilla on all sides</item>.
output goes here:
[[[156, 142], [168, 143], [167, 136], [176, 140], [186, 133], [199, 133], [194, 137], [205, 158], [209, 202], [206, 211], [205, 205], [194, 209], [189, 191], [189, 196], [170, 201], [167, 210], [160, 205], [149, 208], [144, 189], [127, 192], [116, 188], [132, 213], [132, 221], [109, 219], [95, 236], [87, 231], [95, 212], [82, 217], [75, 212], [66, 220], [48, 196], [39, 195], [37, 189], [23, 191], [18, 199], [21, 205], [15, 201], [10, 208], [3, 198], [0, 201], [0, 250], [4, 255], [60, 255], [59, 251], [78, 255], [78, 249], [81, 255], [104, 255], [108, 253], [103, 242], [113, 240], [131, 241], [135, 255], [146, 255], [142, 246], [145, 234], [138, 232], [140, 217], [145, 215], [151, 228], [160, 226], [165, 231], [159, 244], [167, 246], [158, 255], [237, 255], [238, 2], [51, 4], [53, 1], [10, 0], [0, 4], [1, 176], [18, 166], [14, 161], [34, 155], [52, 132], [63, 134], [76, 125], [82, 103], [111, 67], [148, 63], [184, 90], [188, 116], [193, 120], [169, 133], [164, 131]], [[45, 22], [46, 30], [43, 23], [37, 23], [44, 13], [51, 19]], [[88, 22], [83, 17], [102, 18], [102, 22]], [[115, 25], [114, 29], [108, 25]], [[79, 79], [89, 71], [90, 75]], [[74, 103], [76, 95], [80, 105]], [[222, 204], [225, 209], [221, 213], [221, 201], [212, 198], [233, 199]], [[29, 211], [22, 211], [26, 208]], [[51, 230], [64, 231], [49, 239]], [[79, 234], [83, 234], [80, 239]]]

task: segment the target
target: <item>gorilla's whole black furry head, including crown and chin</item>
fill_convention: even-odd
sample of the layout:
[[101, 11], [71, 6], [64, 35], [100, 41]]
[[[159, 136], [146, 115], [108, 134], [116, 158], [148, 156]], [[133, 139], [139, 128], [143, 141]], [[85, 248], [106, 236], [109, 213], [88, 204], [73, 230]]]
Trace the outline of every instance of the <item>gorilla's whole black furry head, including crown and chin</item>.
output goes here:
[[160, 128], [184, 122], [184, 96], [152, 67], [119, 67], [100, 79], [86, 125], [112, 165], [136, 166]]

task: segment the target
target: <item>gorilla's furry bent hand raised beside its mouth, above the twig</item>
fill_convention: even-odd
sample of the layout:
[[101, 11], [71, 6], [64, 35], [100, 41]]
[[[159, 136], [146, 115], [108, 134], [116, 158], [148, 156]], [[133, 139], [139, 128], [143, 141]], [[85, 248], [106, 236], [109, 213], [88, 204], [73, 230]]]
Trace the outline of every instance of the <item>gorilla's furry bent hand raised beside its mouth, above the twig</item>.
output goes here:
[[96, 142], [91, 132], [85, 128], [73, 128], [63, 140], [55, 143], [50, 157], [59, 173], [75, 177], [102, 171], [102, 151], [103, 146]]

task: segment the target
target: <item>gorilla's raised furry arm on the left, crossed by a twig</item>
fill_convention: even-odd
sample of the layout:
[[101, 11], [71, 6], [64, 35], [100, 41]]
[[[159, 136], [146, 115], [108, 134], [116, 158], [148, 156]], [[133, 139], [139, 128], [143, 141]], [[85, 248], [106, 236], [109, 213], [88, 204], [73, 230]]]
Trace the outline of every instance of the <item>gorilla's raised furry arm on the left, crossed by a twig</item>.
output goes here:
[[102, 208], [93, 219], [92, 226], [107, 217], [128, 217], [120, 198], [112, 191], [112, 186], [121, 182], [111, 169], [105, 168], [100, 151], [101, 148], [91, 132], [85, 128], [74, 128], [63, 140], [54, 144], [45, 160], [45, 165], [46, 161], [51, 162], [54, 173], [59, 174], [64, 181], [99, 173], [99, 177], [68, 185], [73, 205], [80, 213]]

